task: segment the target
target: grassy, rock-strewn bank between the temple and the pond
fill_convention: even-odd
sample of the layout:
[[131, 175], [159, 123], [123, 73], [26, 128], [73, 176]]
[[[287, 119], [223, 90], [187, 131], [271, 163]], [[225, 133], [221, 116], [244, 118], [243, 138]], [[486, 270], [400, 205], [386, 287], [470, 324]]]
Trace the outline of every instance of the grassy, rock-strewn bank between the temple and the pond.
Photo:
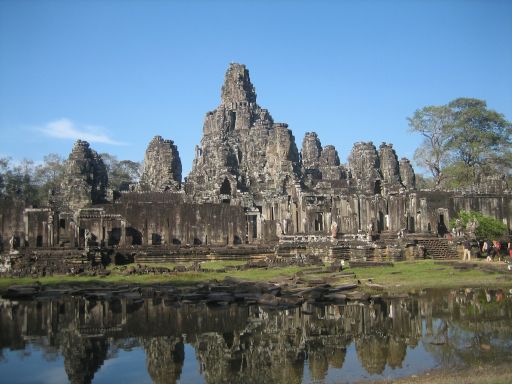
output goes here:
[[[197, 271], [127, 275], [109, 270], [102, 276], [57, 275], [43, 278], [0, 278], [0, 293], [7, 299], [102, 296], [139, 292], [140, 297], [162, 296], [180, 301], [232, 302], [280, 308], [303, 302], [343, 303], [393, 297], [428, 288], [512, 288], [512, 272], [505, 263], [483, 261], [415, 261], [394, 264], [357, 264], [355, 268], [323, 266], [234, 268], [211, 262]], [[231, 267], [231, 268], [230, 268]], [[169, 271], [164, 266], [129, 267], [140, 271]], [[126, 271], [124, 269], [123, 271]]]

